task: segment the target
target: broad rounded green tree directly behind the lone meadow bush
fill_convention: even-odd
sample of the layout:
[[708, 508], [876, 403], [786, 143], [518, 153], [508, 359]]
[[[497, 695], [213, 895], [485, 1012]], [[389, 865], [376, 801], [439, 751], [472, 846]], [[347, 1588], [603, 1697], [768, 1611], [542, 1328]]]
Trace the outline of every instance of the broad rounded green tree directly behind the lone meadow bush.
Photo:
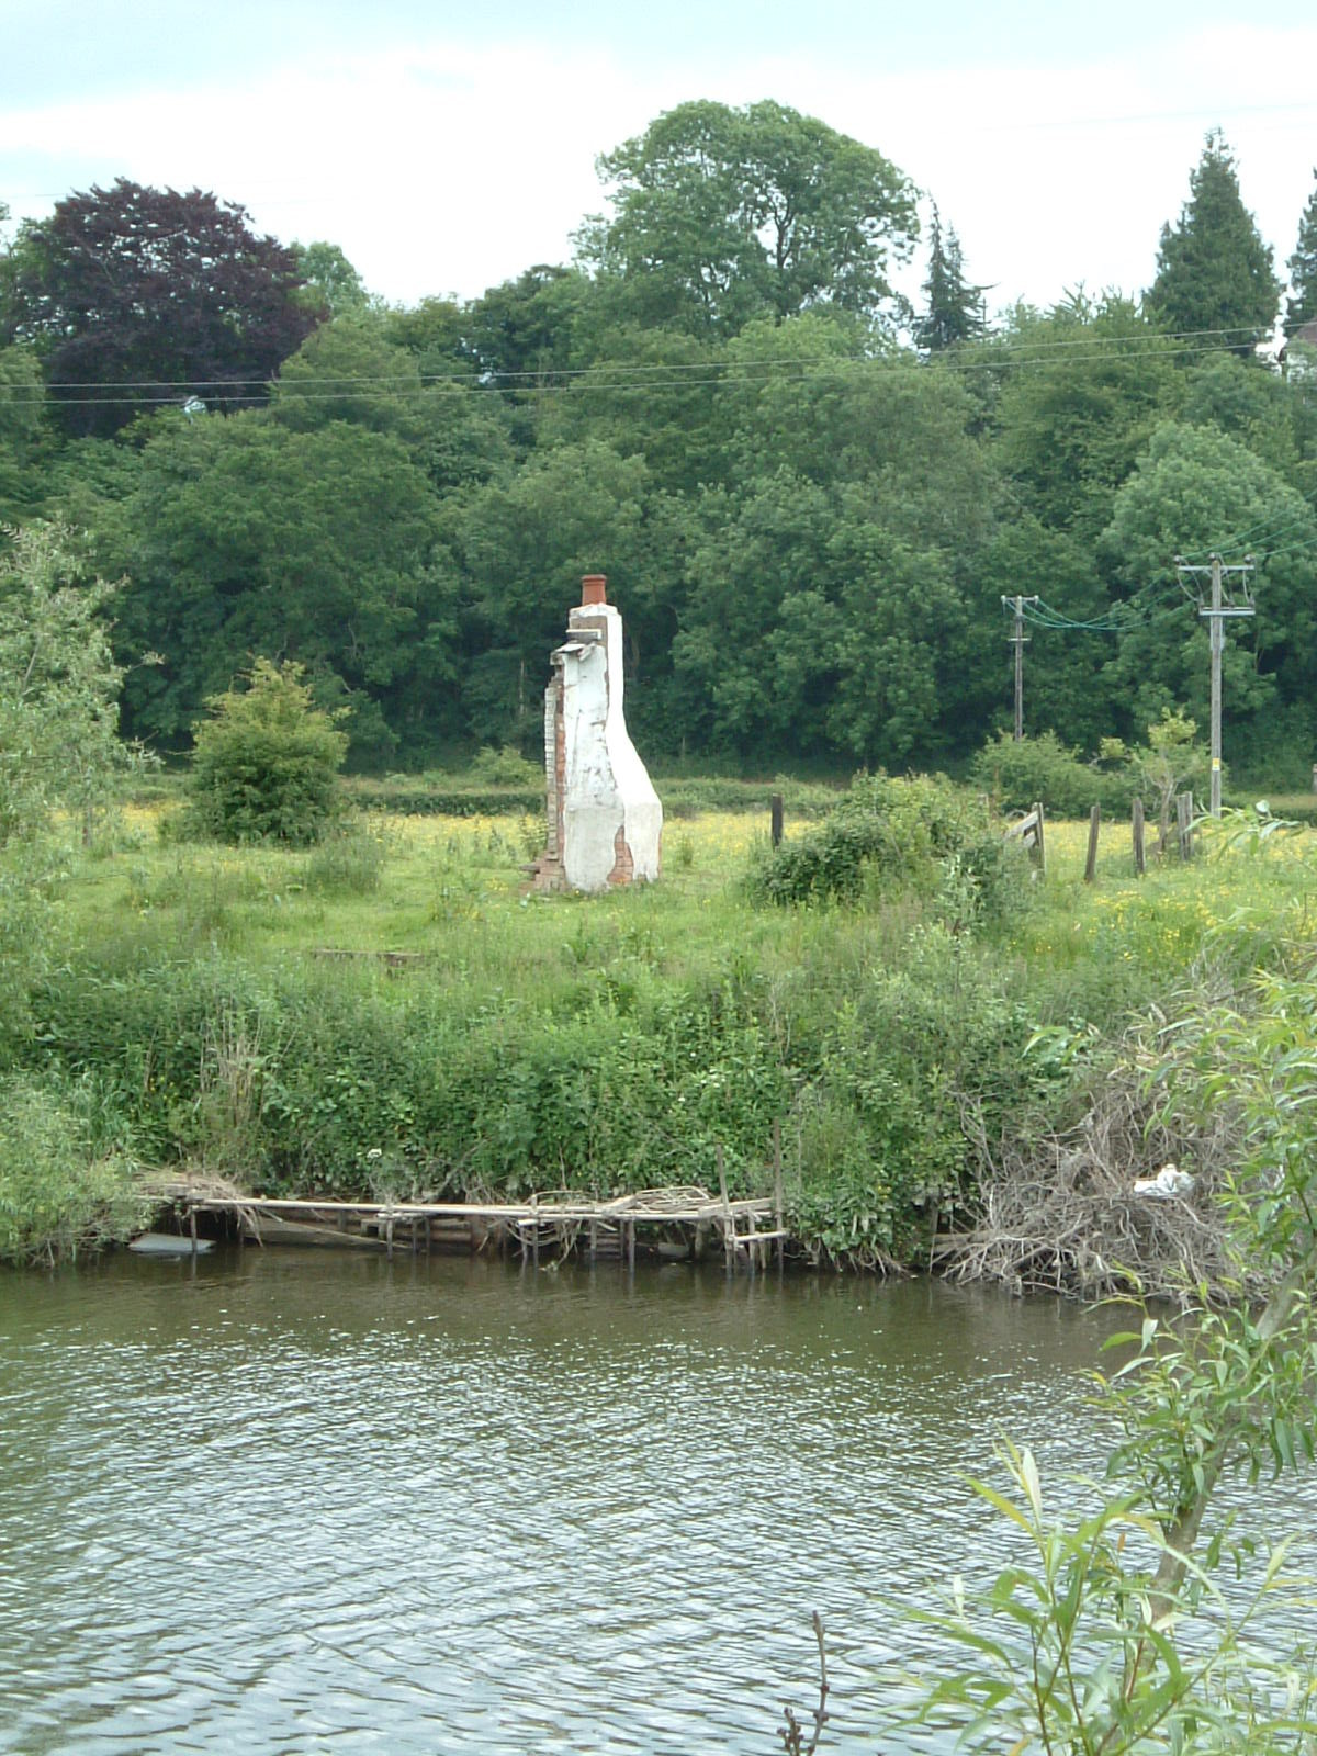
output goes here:
[[132, 729], [177, 746], [204, 699], [263, 655], [337, 678], [356, 746], [386, 755], [379, 704], [418, 667], [435, 697], [443, 681], [428, 644], [446, 595], [435, 516], [393, 434], [288, 432], [260, 411], [172, 416], [144, 450], [116, 555], [132, 579], [123, 636], [165, 658], [128, 680]]

